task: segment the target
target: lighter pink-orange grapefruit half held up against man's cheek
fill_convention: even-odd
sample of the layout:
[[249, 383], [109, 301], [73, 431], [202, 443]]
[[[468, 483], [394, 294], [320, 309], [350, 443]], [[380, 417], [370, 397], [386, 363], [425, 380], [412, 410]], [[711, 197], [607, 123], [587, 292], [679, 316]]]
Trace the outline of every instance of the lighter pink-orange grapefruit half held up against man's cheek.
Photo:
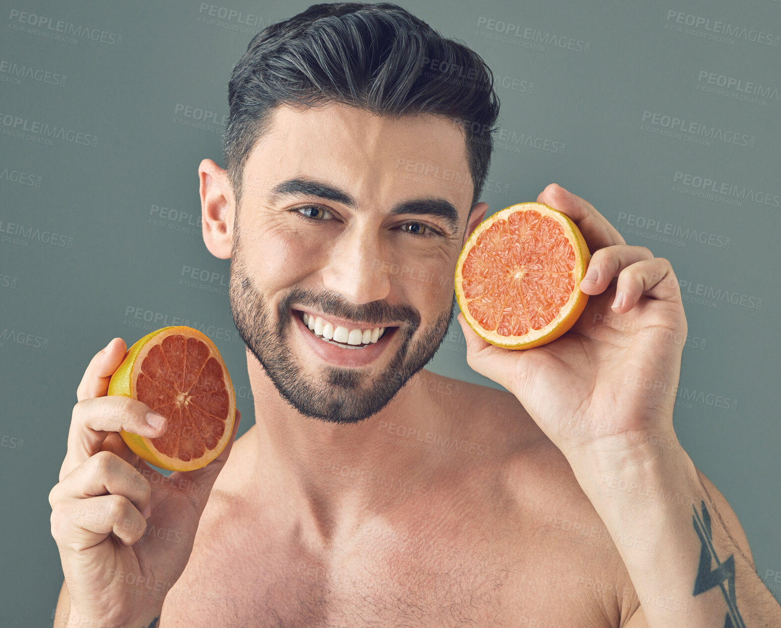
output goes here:
[[542, 203], [519, 203], [477, 225], [455, 268], [455, 294], [475, 333], [505, 349], [557, 339], [583, 312], [591, 254], [574, 222]]

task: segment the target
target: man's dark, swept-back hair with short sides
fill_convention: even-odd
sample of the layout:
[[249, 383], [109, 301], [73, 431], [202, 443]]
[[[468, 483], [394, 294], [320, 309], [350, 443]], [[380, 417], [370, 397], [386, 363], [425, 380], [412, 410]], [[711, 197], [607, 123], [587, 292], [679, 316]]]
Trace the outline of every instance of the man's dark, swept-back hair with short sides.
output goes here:
[[398, 5], [337, 2], [264, 28], [234, 67], [223, 151], [237, 206], [244, 165], [274, 108], [333, 103], [460, 124], [477, 202], [499, 115], [493, 73], [475, 51]]

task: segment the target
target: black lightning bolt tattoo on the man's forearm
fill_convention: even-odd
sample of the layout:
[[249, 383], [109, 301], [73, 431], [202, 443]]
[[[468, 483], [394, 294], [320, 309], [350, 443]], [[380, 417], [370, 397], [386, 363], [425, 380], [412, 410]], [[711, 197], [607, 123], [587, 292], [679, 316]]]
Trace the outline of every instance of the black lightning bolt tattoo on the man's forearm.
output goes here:
[[[724, 628], [746, 628], [746, 624], [737, 611], [735, 599], [735, 555], [729, 556], [724, 562], [719, 562], [716, 550], [713, 547], [713, 533], [711, 532], [711, 515], [705, 508], [705, 502], [701, 500], [702, 515], [694, 508], [694, 530], [700, 537], [702, 549], [700, 551], [700, 567], [697, 569], [697, 579], [694, 580], [694, 593], [699, 595], [704, 591], [710, 591], [713, 587], [721, 587], [722, 594], [727, 603], [727, 615], [724, 619]], [[711, 569], [715, 561], [716, 568]], [[727, 586], [724, 586], [724, 580]]]

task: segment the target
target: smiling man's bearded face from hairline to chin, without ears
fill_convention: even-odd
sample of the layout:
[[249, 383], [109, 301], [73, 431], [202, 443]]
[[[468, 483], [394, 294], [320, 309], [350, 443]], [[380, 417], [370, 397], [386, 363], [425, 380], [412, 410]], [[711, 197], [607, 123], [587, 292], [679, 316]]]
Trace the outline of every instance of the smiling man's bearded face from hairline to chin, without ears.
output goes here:
[[295, 410], [355, 423], [429, 362], [472, 194], [455, 122], [277, 108], [244, 168], [230, 307]]

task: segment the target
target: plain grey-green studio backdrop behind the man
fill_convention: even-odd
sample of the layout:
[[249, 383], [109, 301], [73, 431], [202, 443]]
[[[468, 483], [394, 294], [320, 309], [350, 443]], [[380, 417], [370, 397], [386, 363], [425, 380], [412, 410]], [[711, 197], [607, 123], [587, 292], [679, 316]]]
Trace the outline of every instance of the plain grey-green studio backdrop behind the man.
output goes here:
[[[559, 183], [672, 261], [690, 332], [676, 431], [781, 597], [781, 4], [400, 3], [497, 75], [489, 214]], [[252, 35], [309, 4], [0, 2], [3, 626], [52, 624], [48, 491], [81, 375], [109, 339], [201, 328], [251, 414], [196, 171], [223, 163], [226, 85]], [[465, 351], [454, 321], [430, 370], [496, 387]]]

